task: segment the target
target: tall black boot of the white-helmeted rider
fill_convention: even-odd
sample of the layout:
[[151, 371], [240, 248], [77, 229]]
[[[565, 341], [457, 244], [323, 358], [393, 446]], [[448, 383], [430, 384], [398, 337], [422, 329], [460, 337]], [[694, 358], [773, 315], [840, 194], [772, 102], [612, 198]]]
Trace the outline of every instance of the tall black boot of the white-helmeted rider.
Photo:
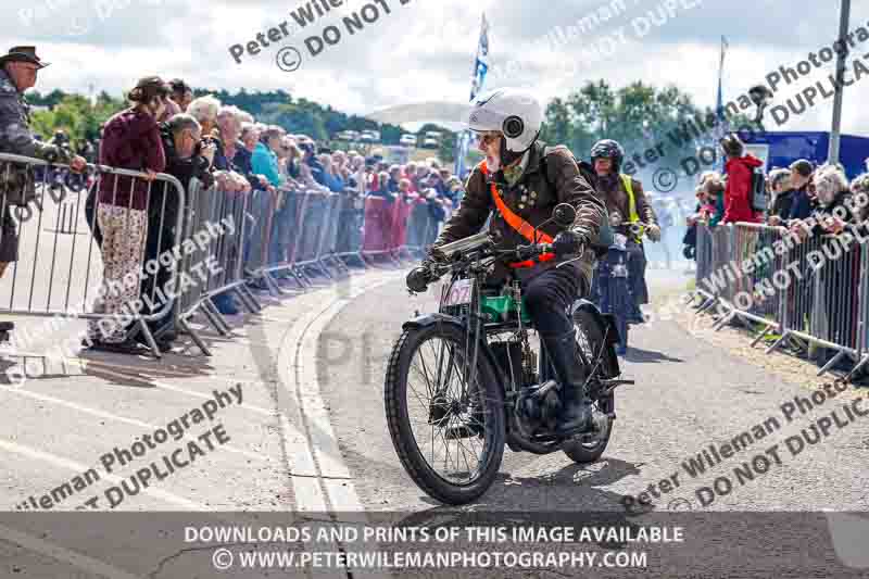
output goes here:
[[574, 331], [562, 336], [541, 336], [546, 354], [561, 383], [562, 412], [555, 433], [568, 437], [592, 427], [591, 401], [585, 397], [585, 373], [577, 353]]

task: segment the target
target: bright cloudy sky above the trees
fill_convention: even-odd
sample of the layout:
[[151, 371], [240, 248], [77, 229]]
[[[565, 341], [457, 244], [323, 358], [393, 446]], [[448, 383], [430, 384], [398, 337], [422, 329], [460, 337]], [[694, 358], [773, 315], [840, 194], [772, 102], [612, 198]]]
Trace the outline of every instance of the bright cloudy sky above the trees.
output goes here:
[[[52, 63], [39, 77], [43, 91], [87, 93], [92, 85], [119, 95], [138, 77], [161, 74], [199, 87], [284, 89], [365, 114], [466, 100], [483, 11], [491, 27], [487, 88], [526, 86], [543, 100], [606, 78], [615, 86], [676, 85], [711, 105], [721, 35], [729, 42], [726, 97], [734, 98], [779, 66], [796, 66], [830, 46], [839, 29], [837, 0], [373, 0], [367, 8], [368, 0], [313, 1], [343, 5], [302, 28], [291, 13], [307, 0], [3, 0], [0, 37], [9, 46], [36, 43]], [[867, 25], [869, 2], [852, 4], [851, 28]], [[358, 11], [371, 22], [361, 20], [364, 28], [351, 35], [342, 18]], [[558, 37], [558, 26], [569, 33], [582, 18], [582, 34]], [[259, 54], [244, 52], [235, 62], [231, 46], [285, 22], [286, 38], [266, 39]], [[313, 41], [305, 39], [329, 25], [341, 38], [312, 56]], [[302, 56], [294, 72], [276, 65], [285, 46]], [[869, 55], [861, 56], [869, 40], [858, 48], [855, 56], [869, 66]], [[833, 72], [833, 63], [813, 70], [783, 86], [776, 103]], [[869, 78], [846, 92], [846, 133], [869, 134], [868, 96]], [[781, 128], [828, 130], [831, 111], [823, 101]]]

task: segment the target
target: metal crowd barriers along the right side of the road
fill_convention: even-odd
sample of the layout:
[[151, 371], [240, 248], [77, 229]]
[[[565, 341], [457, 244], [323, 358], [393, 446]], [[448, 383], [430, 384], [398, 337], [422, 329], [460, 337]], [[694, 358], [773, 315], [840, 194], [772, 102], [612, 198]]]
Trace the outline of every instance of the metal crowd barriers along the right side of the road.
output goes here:
[[[696, 286], [701, 312], [717, 310], [714, 328], [731, 320], [759, 325], [752, 345], [778, 337], [770, 353], [785, 343], [833, 353], [818, 372], [845, 360], [848, 378], [869, 362], [869, 240], [848, 226], [840, 235], [796, 236], [780, 227], [697, 225]], [[754, 328], [752, 328], [754, 329]]]

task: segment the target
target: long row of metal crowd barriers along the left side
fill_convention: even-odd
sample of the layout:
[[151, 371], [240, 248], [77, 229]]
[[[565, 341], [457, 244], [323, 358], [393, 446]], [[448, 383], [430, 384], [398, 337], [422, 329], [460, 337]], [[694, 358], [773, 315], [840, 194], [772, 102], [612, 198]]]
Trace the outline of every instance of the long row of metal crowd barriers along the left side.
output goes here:
[[[215, 303], [218, 295], [232, 294], [257, 313], [262, 306], [250, 285], [280, 294], [279, 281], [287, 279], [305, 290], [318, 278], [349, 275], [353, 265], [418, 256], [438, 231], [429, 202], [418, 196], [387, 200], [351, 190], [294, 189], [229, 193], [198, 179], [185, 191], [169, 175], [149, 180], [140, 172], [101, 165], [88, 165], [87, 174], [74, 180], [86, 185], [76, 192], [56, 185], [58, 175], [67, 173], [64, 165], [0, 154], [1, 214], [9, 213], [8, 226], [20, 239], [18, 260], [0, 277], [0, 314], [117, 320], [118, 304], [106, 310], [98, 294], [135, 273], [135, 279], [127, 277], [134, 287], [122, 292], [131, 306], [125, 306], [123, 339], [140, 336], [155, 357], [161, 357], [158, 340], [178, 331], [211, 355], [191, 322], [201, 315], [206, 327], [230, 336]], [[35, 192], [33, 201], [21, 207], [7, 203], [22, 187]], [[100, 209], [101, 190], [112, 192], [123, 223], [113, 223]], [[144, 206], [131, 212], [136, 191], [143, 192]], [[45, 227], [49, 222], [52, 227]], [[103, 247], [106, 225], [111, 230]], [[156, 264], [153, 272], [148, 264]]]

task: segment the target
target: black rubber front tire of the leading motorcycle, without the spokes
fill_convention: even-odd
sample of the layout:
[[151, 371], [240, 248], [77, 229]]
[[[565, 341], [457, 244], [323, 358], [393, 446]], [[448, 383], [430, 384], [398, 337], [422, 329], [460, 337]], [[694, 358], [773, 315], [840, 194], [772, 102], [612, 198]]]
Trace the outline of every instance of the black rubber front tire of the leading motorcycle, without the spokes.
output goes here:
[[[476, 468], [479, 475], [467, 483], [456, 483], [441, 476], [431, 467], [423, 452], [420, 452], [407, 407], [407, 377], [411, 372], [411, 364], [416, 353], [430, 340], [441, 340], [443, 343], [452, 344], [455, 352], [454, 355], [457, 356], [461, 356], [465, 351], [465, 331], [454, 324], [432, 324], [405, 330], [392, 348], [383, 385], [387, 425], [399, 460], [414, 482], [429, 496], [438, 501], [450, 505], [466, 504], [477, 500], [489, 489], [501, 467], [506, 440], [503, 392], [495, 378], [494, 368], [480, 351], [477, 354], [477, 369], [480, 373], [480, 379], [475, 381], [479, 382], [479, 388], [483, 390], [481, 414], [484, 415], [484, 419], [482, 424], [476, 423], [480, 425], [480, 433], [476, 437], [467, 437], [469, 440], [482, 439], [480, 453], [482, 457], [479, 460], [478, 468]], [[433, 347], [431, 348], [433, 351]], [[433, 398], [437, 399], [437, 395]], [[446, 404], [443, 406], [446, 406]], [[436, 406], [432, 406], [430, 401], [429, 412], [434, 412], [434, 408]], [[450, 429], [449, 421], [451, 419], [448, 418], [446, 430]], [[433, 441], [434, 425], [430, 420], [431, 415], [429, 415], [428, 424], [432, 428], [431, 436]], [[441, 425], [437, 425], [437, 427], [441, 428]], [[441, 440], [449, 444], [446, 442], [448, 437], [444, 436], [443, 431], [441, 431], [440, 436]], [[469, 444], [473, 445], [470, 442]], [[465, 464], [468, 463], [466, 462]], [[469, 466], [468, 469], [470, 470]]]

